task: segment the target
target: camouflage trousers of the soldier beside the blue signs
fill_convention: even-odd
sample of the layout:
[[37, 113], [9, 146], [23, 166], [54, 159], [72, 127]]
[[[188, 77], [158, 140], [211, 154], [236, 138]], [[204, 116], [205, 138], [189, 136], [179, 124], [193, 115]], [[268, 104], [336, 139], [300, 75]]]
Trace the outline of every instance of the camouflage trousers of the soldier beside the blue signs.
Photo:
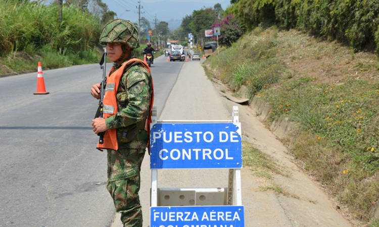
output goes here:
[[124, 227], [142, 227], [139, 202], [141, 164], [145, 149], [108, 149], [107, 189], [113, 198], [116, 212], [121, 213]]

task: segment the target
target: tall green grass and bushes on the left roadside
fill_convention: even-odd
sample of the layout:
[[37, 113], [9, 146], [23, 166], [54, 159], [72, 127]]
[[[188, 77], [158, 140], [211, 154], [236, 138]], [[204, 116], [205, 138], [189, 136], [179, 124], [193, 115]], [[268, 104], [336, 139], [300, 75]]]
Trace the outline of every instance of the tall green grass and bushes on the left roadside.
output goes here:
[[[71, 5], [0, 0], [0, 75], [99, 63], [101, 20]], [[133, 51], [143, 59], [141, 46]], [[159, 51], [155, 56], [163, 54]]]

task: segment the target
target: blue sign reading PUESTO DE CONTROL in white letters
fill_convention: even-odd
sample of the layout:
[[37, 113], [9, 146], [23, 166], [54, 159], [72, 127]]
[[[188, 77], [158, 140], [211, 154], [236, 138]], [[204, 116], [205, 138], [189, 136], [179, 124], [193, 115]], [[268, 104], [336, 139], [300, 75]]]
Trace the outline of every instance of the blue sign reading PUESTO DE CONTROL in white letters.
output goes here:
[[242, 168], [241, 123], [155, 124], [150, 168]]

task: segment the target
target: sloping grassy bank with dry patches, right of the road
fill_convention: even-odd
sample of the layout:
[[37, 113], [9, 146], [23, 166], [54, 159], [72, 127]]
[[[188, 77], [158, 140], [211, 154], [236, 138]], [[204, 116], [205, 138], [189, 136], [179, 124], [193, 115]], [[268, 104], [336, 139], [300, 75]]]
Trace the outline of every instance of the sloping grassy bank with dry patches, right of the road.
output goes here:
[[375, 54], [276, 27], [256, 28], [216, 54], [206, 61], [211, 76], [234, 92], [246, 86], [250, 97], [270, 105], [267, 121], [292, 122], [296, 130], [283, 142], [297, 164], [350, 215], [379, 226]]

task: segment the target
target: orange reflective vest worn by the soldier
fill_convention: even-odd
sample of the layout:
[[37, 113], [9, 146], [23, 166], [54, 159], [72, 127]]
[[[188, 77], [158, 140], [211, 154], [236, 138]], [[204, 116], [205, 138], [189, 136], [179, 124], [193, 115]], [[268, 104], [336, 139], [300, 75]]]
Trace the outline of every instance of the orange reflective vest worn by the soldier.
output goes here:
[[[114, 69], [112, 67], [112, 69], [109, 72], [108, 77], [107, 77], [107, 86], [106, 86], [105, 95], [104, 95], [104, 99], [103, 99], [103, 104], [104, 104], [103, 105], [103, 116], [104, 116], [104, 119], [107, 119], [110, 116], [113, 116], [117, 113], [117, 111], [118, 111], [117, 99], [116, 99], [117, 89], [118, 89], [118, 86], [120, 84], [120, 80], [121, 80], [122, 74], [124, 73], [124, 69], [125, 69], [126, 65], [133, 63], [133, 62], [140, 62], [142, 65], [144, 65], [149, 70], [149, 73], [151, 73], [151, 70], [150, 70], [148, 64], [145, 63], [144, 61], [136, 59], [136, 58], [125, 62], [124, 64], [122, 64], [122, 66], [119, 69], [117, 69], [115, 72], [110, 74], [110, 72], [112, 72]], [[145, 124], [145, 130], [149, 134], [149, 142], [148, 142], [149, 153], [150, 153], [150, 123], [152, 122], [151, 116], [152, 116], [152, 108], [153, 108], [153, 103], [154, 103], [153, 78], [151, 78], [151, 89], [152, 89], [152, 92], [150, 94], [150, 102], [149, 102], [150, 111], [149, 111], [149, 116], [148, 116], [148, 118], [146, 120], [146, 124]], [[116, 133], [117, 133], [117, 129], [107, 130], [105, 132], [105, 135], [104, 135], [104, 143], [100, 144], [98, 142], [97, 149], [99, 149], [99, 150], [103, 150], [103, 149], [118, 150], [118, 142], [117, 142], [117, 134]]]

